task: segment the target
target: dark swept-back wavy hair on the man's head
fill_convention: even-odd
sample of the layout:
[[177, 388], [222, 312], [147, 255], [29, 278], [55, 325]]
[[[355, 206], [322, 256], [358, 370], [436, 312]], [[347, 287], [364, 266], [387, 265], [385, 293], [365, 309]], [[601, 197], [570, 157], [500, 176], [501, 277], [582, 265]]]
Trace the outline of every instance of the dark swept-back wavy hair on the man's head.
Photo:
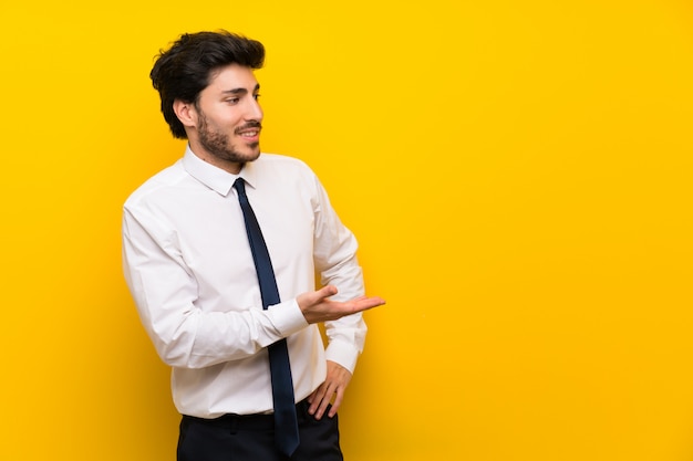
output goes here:
[[265, 62], [262, 43], [227, 31], [183, 34], [168, 51], [161, 51], [149, 77], [162, 98], [162, 113], [170, 133], [187, 139], [173, 109], [174, 101], [197, 104], [213, 73], [229, 64], [260, 69]]

